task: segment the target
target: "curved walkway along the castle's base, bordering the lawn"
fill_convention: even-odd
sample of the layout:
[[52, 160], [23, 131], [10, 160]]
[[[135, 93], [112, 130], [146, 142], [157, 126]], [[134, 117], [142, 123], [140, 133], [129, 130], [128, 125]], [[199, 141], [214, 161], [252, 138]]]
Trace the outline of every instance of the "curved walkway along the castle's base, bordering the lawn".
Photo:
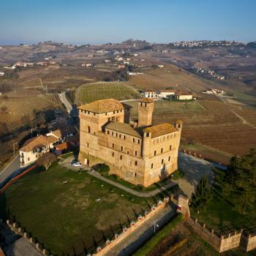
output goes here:
[[157, 195], [158, 193], [163, 192], [166, 189], [170, 189], [170, 187], [175, 187], [177, 185], [176, 182], [170, 181], [168, 184], [166, 184], [163, 187], [160, 187], [159, 189], [154, 189], [154, 190], [149, 191], [149, 192], [139, 192], [139, 191], [136, 191], [134, 189], [130, 189], [129, 187], [125, 187], [125, 186], [119, 184], [116, 181], [111, 181], [109, 178], [105, 178], [105, 177], [101, 176], [97, 171], [90, 170], [88, 173], [91, 176], [94, 176], [95, 178], [99, 178], [100, 180], [105, 181], [108, 184], [111, 184], [115, 187], [118, 187], [119, 189], [122, 189], [125, 192], [128, 192], [128, 193], [130, 193], [132, 195], [135, 195], [137, 197], [154, 197], [154, 195]]

